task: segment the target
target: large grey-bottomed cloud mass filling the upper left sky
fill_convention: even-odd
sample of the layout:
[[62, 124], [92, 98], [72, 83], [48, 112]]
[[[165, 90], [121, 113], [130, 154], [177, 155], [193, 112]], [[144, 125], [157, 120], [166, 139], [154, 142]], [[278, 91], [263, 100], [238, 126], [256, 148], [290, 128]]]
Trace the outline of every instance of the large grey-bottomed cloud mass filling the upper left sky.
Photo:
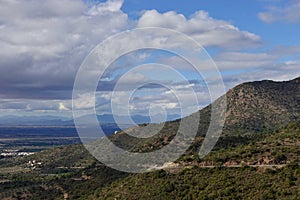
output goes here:
[[91, 11], [82, 1], [1, 1], [1, 97], [70, 98], [89, 51], [127, 28], [122, 2], [109, 0]]

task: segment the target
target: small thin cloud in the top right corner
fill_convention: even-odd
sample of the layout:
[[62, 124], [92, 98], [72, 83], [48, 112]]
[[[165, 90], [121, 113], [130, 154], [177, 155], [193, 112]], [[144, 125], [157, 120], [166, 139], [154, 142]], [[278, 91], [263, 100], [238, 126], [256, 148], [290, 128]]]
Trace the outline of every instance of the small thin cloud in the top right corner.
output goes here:
[[297, 0], [288, 0], [283, 6], [270, 6], [265, 12], [260, 12], [258, 17], [266, 23], [278, 21], [300, 23], [300, 2]]

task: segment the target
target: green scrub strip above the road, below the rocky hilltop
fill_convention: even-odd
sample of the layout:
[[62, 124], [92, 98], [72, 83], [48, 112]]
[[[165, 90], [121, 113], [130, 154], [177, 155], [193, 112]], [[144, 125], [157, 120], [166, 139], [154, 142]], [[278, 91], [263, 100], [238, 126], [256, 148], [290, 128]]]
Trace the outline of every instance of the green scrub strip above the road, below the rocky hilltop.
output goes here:
[[[235, 145], [233, 142], [236, 141]], [[191, 149], [198, 149], [194, 145]], [[300, 163], [300, 121], [290, 123], [273, 133], [261, 133], [250, 136], [232, 136], [220, 138], [215, 149], [202, 160], [198, 160], [198, 151], [188, 151], [180, 160], [232, 165], [276, 165], [290, 162]], [[179, 160], [179, 162], [180, 162]]]

